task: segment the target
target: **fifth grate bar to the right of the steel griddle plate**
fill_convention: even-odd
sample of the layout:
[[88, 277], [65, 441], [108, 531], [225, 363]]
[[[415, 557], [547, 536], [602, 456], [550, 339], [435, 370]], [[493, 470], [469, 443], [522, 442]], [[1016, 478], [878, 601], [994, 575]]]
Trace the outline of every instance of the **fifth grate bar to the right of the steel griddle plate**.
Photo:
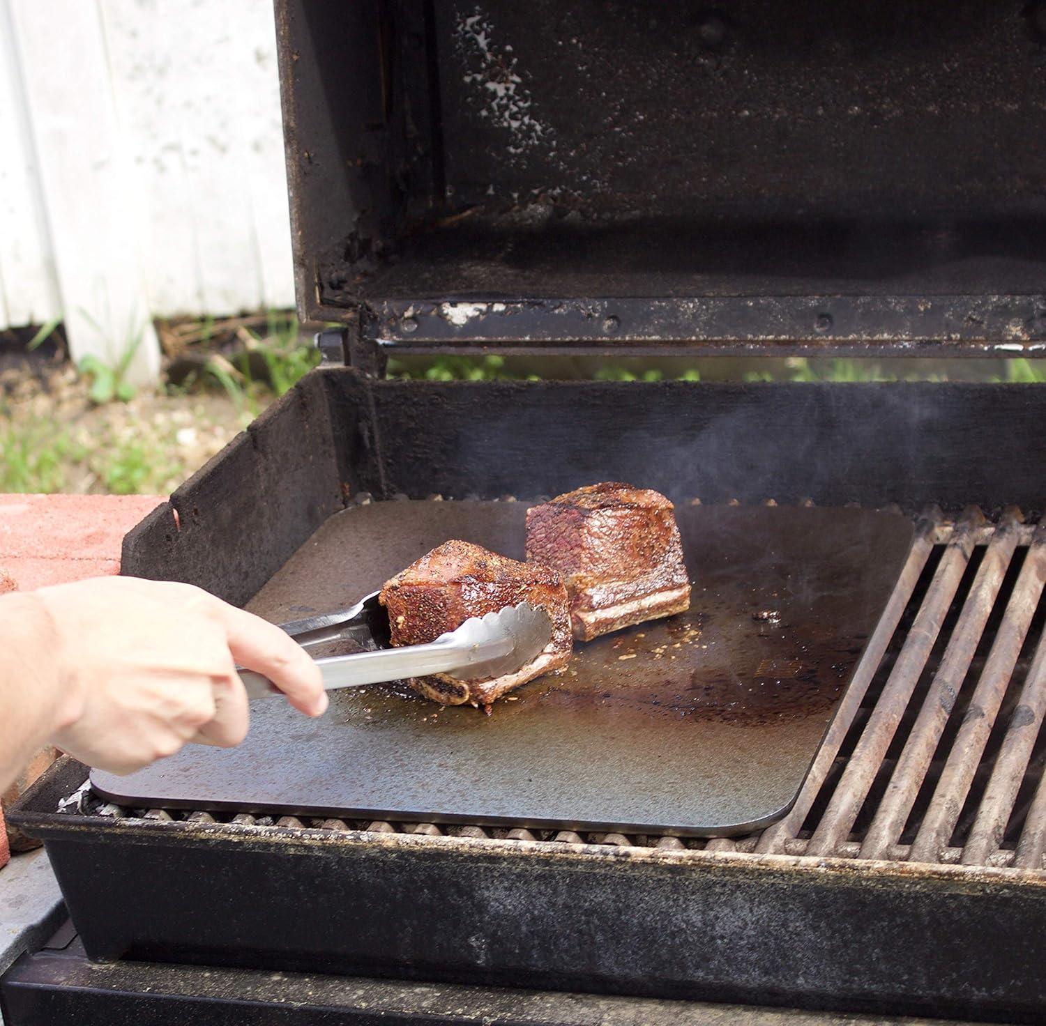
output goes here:
[[1002, 749], [996, 759], [992, 779], [977, 810], [970, 839], [962, 850], [962, 864], [977, 866], [1002, 843], [1006, 823], [1031, 758], [1031, 750], [1043, 713], [1046, 712], [1046, 633], [1036, 649], [1031, 668], [1021, 688], [1021, 699], [1006, 728]]

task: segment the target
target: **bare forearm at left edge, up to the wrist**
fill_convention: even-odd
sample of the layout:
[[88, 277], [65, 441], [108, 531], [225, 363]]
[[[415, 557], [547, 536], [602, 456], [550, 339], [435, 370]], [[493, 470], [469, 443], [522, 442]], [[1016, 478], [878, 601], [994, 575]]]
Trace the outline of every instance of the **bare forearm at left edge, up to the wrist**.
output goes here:
[[0, 598], [0, 792], [70, 717], [58, 670], [59, 639], [30, 592]]

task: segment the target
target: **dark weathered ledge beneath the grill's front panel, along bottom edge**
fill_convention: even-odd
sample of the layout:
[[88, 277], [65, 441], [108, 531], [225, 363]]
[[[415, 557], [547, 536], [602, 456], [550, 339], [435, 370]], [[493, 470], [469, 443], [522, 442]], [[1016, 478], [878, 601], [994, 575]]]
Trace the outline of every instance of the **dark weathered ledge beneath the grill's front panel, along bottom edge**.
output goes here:
[[[277, 974], [156, 962], [92, 963], [68, 932], [5, 979], [6, 1022], [77, 1026], [388, 1024], [433, 1026], [882, 1026], [882, 1017], [730, 1004], [412, 983], [372, 977]], [[452, 1010], [451, 1010], [452, 1009]], [[949, 1020], [950, 1026], [965, 1026]], [[905, 1026], [943, 1026], [906, 1019]]]

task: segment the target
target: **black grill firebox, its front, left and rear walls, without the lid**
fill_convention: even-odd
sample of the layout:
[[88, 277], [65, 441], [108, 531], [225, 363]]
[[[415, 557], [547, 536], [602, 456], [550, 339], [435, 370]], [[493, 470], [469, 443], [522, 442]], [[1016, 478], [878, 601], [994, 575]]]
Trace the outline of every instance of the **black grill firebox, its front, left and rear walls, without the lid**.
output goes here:
[[[627, 479], [640, 464], [644, 481], [678, 499], [704, 492], [719, 501], [828, 504], [857, 496], [915, 510], [973, 495], [990, 508], [1016, 500], [1030, 510], [1042, 506], [1032, 473], [1043, 465], [1042, 443], [1013, 425], [1041, 417], [1040, 394], [918, 385], [436, 386], [319, 370], [128, 537], [124, 569], [243, 601], [326, 516], [366, 501], [360, 489], [378, 501], [437, 491], [527, 498], [568, 478]], [[729, 433], [717, 434], [731, 418], [753, 431], [776, 427], [748, 450], [747, 486], [731, 462], [740, 451]], [[999, 430], [969, 430], [985, 418]], [[522, 426], [515, 438], [511, 425]], [[704, 449], [702, 436], [713, 439]], [[978, 446], [984, 458], [971, 465]], [[707, 458], [680, 460], [684, 450]], [[724, 479], [727, 472], [736, 476]], [[920, 520], [924, 562], [948, 538], [969, 556], [991, 535], [983, 518], [949, 523], [939, 514]], [[1020, 528], [1024, 543], [1030, 530]], [[943, 561], [916, 567], [927, 595]], [[916, 580], [908, 587], [916, 591]], [[892, 658], [895, 665], [902, 656]], [[835, 744], [834, 770], [822, 767], [825, 794], [842, 737]], [[873, 773], [887, 766], [873, 762]], [[948, 866], [957, 860], [942, 849], [936, 865], [908, 864], [893, 849], [893, 861], [857, 860], [847, 826], [811, 858], [815, 842], [799, 827], [816, 795], [770, 853], [753, 850], [758, 839], [692, 850], [612, 836], [596, 845], [527, 831], [55, 813], [83, 776], [75, 763], [55, 771], [13, 818], [46, 838], [94, 959], [1028, 1022], [1042, 1013], [1041, 850], [1040, 868], [1029, 869], [991, 859]], [[854, 795], [861, 805], [863, 793]], [[810, 815], [816, 824], [817, 808]], [[1001, 850], [992, 846], [996, 864], [1013, 861]]]

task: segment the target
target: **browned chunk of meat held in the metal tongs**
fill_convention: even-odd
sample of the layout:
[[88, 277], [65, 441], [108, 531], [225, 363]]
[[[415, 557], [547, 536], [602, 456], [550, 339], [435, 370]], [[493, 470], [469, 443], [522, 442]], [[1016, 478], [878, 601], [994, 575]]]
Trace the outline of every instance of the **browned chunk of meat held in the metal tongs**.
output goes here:
[[562, 669], [570, 659], [570, 613], [563, 578], [554, 570], [519, 563], [469, 542], [434, 548], [382, 588], [393, 645], [435, 641], [473, 616], [529, 602], [548, 613], [552, 637], [538, 656], [514, 674], [461, 681], [447, 674], [408, 681], [414, 690], [442, 705], [488, 707], [506, 691], [542, 674]]

